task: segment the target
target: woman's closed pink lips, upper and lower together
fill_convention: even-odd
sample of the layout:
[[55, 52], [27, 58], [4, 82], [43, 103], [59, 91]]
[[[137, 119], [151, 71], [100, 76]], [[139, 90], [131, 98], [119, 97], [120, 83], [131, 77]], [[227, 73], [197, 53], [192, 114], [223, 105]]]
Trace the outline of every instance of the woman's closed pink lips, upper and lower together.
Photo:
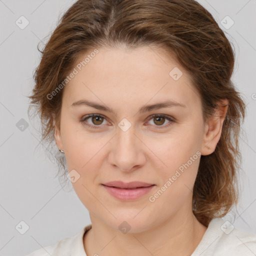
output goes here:
[[155, 184], [139, 181], [132, 181], [129, 183], [112, 181], [101, 185], [110, 195], [122, 201], [136, 200], [137, 198], [147, 194], [155, 186]]

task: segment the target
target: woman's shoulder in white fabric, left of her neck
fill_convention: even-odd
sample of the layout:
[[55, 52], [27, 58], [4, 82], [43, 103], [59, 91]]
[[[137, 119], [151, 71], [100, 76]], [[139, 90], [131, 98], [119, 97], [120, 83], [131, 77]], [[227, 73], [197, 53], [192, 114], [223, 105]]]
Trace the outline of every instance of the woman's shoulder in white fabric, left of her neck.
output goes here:
[[[91, 228], [91, 224], [86, 225], [84, 227], [82, 227], [78, 233], [60, 239], [57, 242], [55, 242], [54, 244], [36, 249], [34, 251], [32, 251], [31, 253], [27, 254], [26, 256], [62, 256], [63, 253], [68, 255], [68, 253], [71, 254], [77, 254], [79, 255], [79, 253], [84, 253], [84, 248], [83, 248], [83, 234], [84, 232], [86, 232], [87, 230], [89, 230]], [[85, 255], [86, 256], [86, 255]]]

